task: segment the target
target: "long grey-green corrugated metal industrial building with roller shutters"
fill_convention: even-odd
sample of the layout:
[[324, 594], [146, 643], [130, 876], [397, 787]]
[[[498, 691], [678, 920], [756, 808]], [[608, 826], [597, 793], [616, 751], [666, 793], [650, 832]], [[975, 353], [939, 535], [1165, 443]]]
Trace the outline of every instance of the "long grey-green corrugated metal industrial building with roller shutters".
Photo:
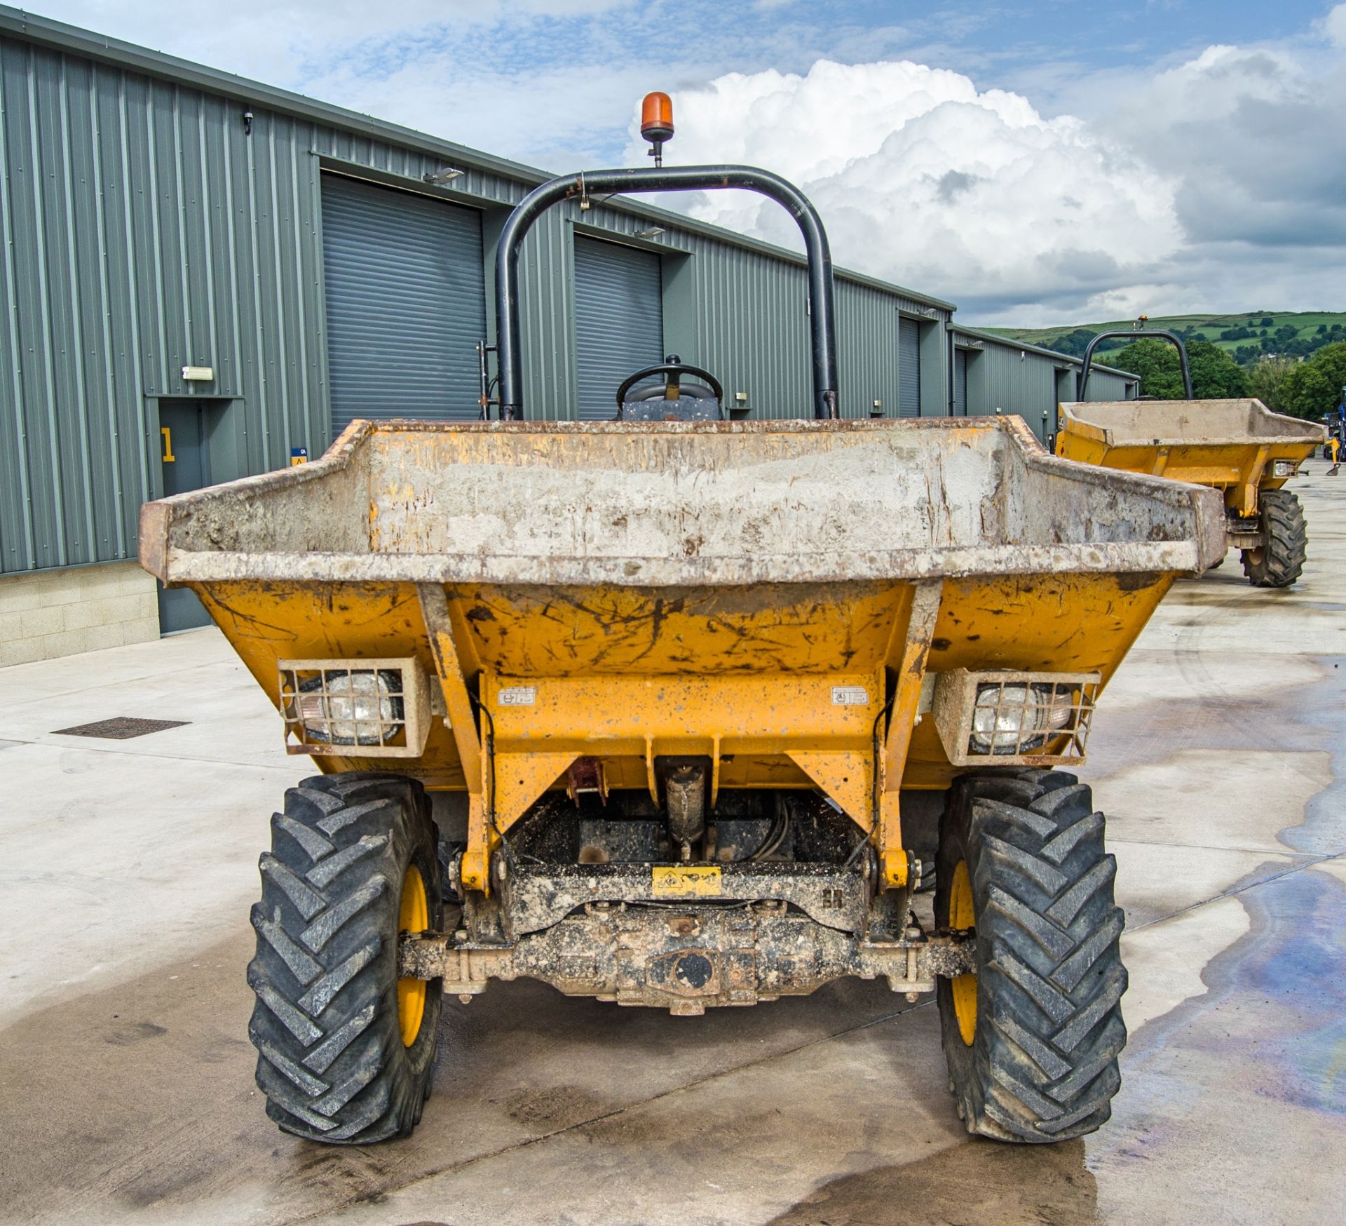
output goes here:
[[[140, 504], [320, 454], [359, 416], [475, 419], [494, 244], [546, 174], [0, 7], [0, 666], [201, 624]], [[810, 406], [804, 261], [639, 199], [524, 251], [526, 403], [603, 419], [665, 353], [751, 418]], [[1078, 361], [837, 272], [841, 412], [1016, 412]], [[1096, 368], [1090, 399], [1137, 393]]]

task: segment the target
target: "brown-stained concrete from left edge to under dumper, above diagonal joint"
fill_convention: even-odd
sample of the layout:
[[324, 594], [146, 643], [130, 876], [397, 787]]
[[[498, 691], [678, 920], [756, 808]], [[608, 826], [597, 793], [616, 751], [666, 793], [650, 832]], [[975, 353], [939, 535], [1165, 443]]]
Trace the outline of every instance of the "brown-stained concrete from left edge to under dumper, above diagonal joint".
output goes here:
[[[63, 1223], [98, 1206], [101, 1222], [261, 1223], [381, 1203], [911, 1008], [883, 985], [848, 981], [688, 1025], [530, 981], [498, 983], [470, 1006], [446, 1005], [435, 1094], [413, 1137], [322, 1147], [276, 1129], [253, 1085], [252, 938], [240, 927], [188, 961], [71, 994], [0, 1032], [0, 1218]], [[935, 1067], [937, 1044], [926, 1055]]]

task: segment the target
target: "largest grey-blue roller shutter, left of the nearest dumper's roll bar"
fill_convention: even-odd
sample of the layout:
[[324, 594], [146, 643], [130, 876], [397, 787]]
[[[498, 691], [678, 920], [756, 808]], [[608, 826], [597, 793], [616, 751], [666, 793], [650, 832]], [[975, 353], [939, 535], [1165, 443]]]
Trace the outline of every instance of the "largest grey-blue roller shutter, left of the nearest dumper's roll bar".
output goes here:
[[334, 437], [353, 418], [478, 416], [478, 213], [323, 175], [323, 272]]

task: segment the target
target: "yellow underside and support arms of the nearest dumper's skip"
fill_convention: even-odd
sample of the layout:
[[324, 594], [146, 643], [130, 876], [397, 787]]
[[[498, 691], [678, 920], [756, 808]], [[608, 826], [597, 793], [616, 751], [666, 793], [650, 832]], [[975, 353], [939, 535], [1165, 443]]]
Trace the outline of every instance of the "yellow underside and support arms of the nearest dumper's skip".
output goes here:
[[871, 834], [882, 882], [905, 885], [900, 791], [944, 788], [958, 773], [921, 711], [927, 671], [1050, 668], [1106, 682], [1172, 578], [997, 575], [790, 585], [787, 595], [191, 586], [272, 702], [288, 659], [415, 657], [439, 678], [444, 718], [432, 721], [420, 759], [328, 753], [318, 765], [466, 789], [462, 881], [489, 893], [501, 834], [544, 792], [564, 788], [577, 759], [596, 759], [608, 789], [649, 788], [657, 803], [662, 754], [708, 756], [712, 798], [721, 788], [822, 789]]

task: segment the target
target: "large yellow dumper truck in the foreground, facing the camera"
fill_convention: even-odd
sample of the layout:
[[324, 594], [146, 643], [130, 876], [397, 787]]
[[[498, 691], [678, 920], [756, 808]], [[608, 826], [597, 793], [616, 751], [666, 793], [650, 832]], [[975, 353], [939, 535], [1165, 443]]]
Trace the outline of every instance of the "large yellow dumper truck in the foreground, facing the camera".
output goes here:
[[[532, 221], [712, 186], [804, 230], [812, 420], [725, 420], [672, 360], [612, 422], [529, 419]], [[1222, 554], [1218, 494], [1055, 459], [1012, 418], [839, 419], [826, 236], [763, 171], [542, 185], [497, 310], [502, 420], [355, 422], [314, 463], [144, 508], [145, 567], [201, 597], [322, 772], [272, 819], [252, 911], [268, 1113], [408, 1134], [443, 997], [493, 979], [692, 1017], [857, 975], [938, 993], [969, 1130], [1096, 1129], [1123, 915], [1069, 771], [1174, 577]]]

